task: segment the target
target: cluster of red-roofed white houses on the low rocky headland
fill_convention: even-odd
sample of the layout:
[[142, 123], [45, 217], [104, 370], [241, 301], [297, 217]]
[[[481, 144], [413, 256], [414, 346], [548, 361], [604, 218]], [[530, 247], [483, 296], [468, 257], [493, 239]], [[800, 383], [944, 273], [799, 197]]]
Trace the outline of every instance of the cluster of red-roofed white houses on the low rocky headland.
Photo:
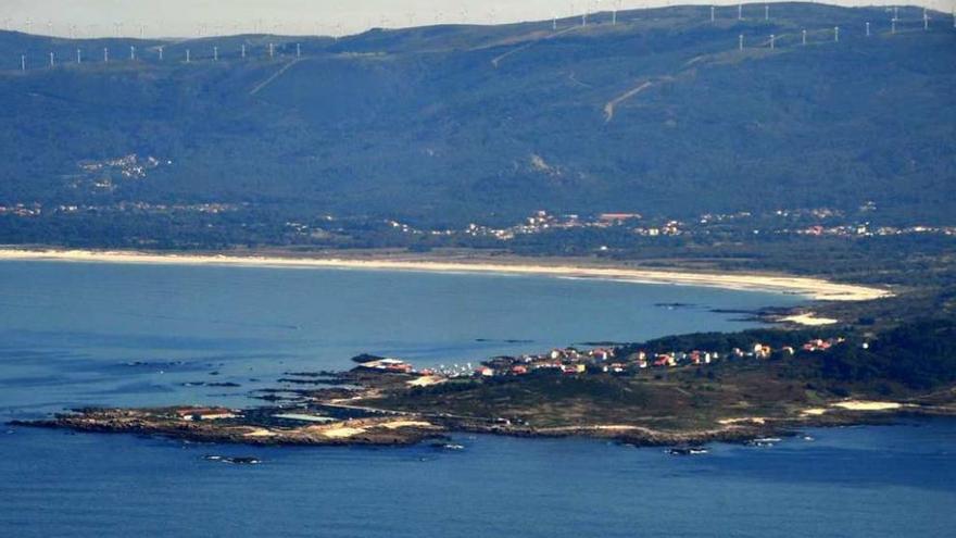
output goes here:
[[[772, 348], [766, 343], [754, 342], [747, 348], [733, 348], [730, 351], [690, 350], [652, 353], [636, 351], [625, 354], [620, 348], [606, 347], [579, 350], [574, 347], [553, 349], [543, 354], [521, 354], [517, 356], [496, 356], [473, 366], [471, 363], [440, 365], [436, 368], [417, 370], [401, 359], [377, 358], [363, 362], [360, 368], [383, 373], [416, 375], [408, 381], [412, 386], [428, 386], [454, 378], [501, 378], [533, 374], [561, 375], [634, 375], [640, 372], [676, 367], [706, 367], [719, 361], [769, 360], [789, 358], [797, 353], [827, 351], [834, 346], [845, 345], [843, 337], [813, 339], [800, 348], [783, 346]], [[863, 343], [864, 348], [868, 345]]]

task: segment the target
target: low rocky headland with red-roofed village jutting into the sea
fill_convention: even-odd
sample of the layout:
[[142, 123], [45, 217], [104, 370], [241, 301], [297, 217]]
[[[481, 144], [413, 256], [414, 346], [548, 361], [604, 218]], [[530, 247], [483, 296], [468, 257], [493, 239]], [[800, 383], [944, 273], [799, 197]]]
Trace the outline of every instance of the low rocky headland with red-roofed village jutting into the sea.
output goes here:
[[953, 360], [952, 327], [879, 339], [796, 330], [690, 335], [499, 356], [477, 367], [416, 370], [361, 355], [348, 372], [287, 373], [280, 387], [254, 395], [268, 402], [261, 408], [83, 409], [18, 424], [246, 445], [402, 446], [482, 433], [688, 447], [956, 414], [952, 384], [920, 386], [920, 371], [897, 349], [909, 334], [898, 330], [919, 331], [919, 341], [940, 350], [939, 358], [916, 353], [913, 368]]

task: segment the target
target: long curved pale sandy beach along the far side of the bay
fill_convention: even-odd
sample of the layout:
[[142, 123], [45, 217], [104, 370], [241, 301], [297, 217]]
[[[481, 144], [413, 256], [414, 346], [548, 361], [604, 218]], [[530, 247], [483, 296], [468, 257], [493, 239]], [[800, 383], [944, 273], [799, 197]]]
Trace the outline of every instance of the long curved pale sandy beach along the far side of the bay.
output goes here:
[[821, 301], [868, 301], [890, 297], [886, 290], [797, 276], [689, 273], [613, 266], [545, 265], [533, 262], [350, 260], [339, 258], [239, 257], [225, 254], [156, 254], [131, 251], [0, 249], [0, 261], [61, 261], [168, 265], [238, 265], [261, 267], [351, 268], [432, 273], [539, 275], [599, 278], [643, 284], [671, 284], [801, 295]]

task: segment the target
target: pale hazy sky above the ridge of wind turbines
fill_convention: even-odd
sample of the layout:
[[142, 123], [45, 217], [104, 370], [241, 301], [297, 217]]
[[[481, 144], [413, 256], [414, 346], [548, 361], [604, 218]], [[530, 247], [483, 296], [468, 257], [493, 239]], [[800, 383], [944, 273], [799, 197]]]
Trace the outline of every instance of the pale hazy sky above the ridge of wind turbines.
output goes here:
[[[777, 0], [765, 0], [772, 7]], [[271, 33], [284, 36], [351, 35], [369, 28], [407, 28], [429, 24], [508, 24], [574, 17], [588, 13], [646, 10], [669, 0], [164, 0], [158, 4], [115, 0], [5, 0], [2, 29], [60, 37], [209, 37]], [[737, 0], [699, 0], [689, 4], [737, 9]], [[894, 5], [885, 0], [829, 0], [858, 8]], [[920, 8], [949, 13], [953, 0], [921, 0]]]

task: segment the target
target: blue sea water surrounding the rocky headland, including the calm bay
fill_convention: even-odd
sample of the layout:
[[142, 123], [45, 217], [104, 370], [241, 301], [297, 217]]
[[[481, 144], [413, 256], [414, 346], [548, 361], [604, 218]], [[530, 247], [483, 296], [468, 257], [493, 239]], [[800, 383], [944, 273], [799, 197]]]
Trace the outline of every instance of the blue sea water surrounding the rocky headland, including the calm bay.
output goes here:
[[[474, 362], [742, 328], [710, 310], [795, 301], [537, 277], [7, 262], [0, 421], [89, 404], [250, 404], [282, 372], [348, 367], [361, 352]], [[0, 427], [0, 536], [954, 534], [956, 422], [809, 434], [676, 458], [582, 439], [458, 436], [465, 450], [442, 452]]]

